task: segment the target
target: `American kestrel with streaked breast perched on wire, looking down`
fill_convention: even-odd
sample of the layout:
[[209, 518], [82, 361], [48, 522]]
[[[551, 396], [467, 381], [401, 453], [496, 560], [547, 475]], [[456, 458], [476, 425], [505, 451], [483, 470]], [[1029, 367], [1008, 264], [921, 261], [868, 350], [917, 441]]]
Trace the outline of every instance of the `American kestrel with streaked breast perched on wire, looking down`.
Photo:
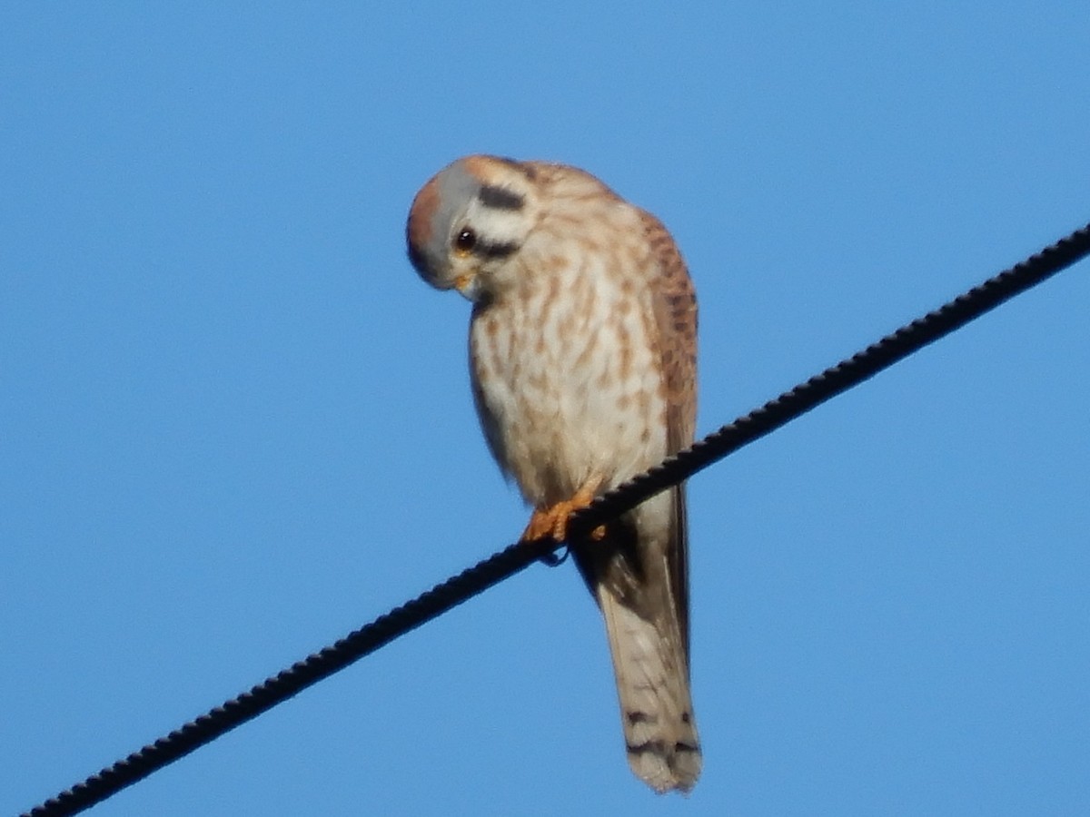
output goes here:
[[[523, 540], [691, 444], [697, 300], [666, 228], [582, 170], [469, 156], [413, 200], [409, 257], [473, 302], [488, 448], [534, 511]], [[629, 765], [657, 792], [701, 768], [689, 693], [683, 487], [568, 542], [606, 622]]]

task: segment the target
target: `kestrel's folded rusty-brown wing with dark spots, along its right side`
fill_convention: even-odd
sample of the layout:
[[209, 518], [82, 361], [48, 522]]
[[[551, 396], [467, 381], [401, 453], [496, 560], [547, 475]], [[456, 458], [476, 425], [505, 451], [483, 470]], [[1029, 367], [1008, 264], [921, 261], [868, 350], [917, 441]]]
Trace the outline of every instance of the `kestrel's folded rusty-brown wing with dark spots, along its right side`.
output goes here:
[[[663, 223], [642, 214], [643, 228], [657, 275], [652, 298], [663, 377], [666, 381], [666, 446], [674, 454], [692, 444], [697, 428], [697, 292], [677, 244]], [[674, 541], [670, 578], [677, 600], [686, 656], [689, 655], [689, 533], [685, 486], [673, 490]]]

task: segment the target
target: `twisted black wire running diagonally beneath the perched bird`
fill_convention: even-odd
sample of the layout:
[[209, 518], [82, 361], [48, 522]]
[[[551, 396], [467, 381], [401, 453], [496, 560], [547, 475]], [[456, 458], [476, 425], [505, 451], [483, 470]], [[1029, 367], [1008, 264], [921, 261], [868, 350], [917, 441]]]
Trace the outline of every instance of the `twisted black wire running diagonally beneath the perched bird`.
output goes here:
[[[917, 318], [851, 357], [784, 392], [760, 408], [681, 451], [573, 514], [569, 531], [585, 534], [631, 510], [649, 497], [677, 485], [727, 454], [774, 431], [829, 398], [858, 386], [884, 368], [953, 332], [985, 312], [1025, 292], [1090, 254], [1090, 224], [989, 279], [932, 313]], [[306, 687], [379, 649], [395, 638], [435, 619], [538, 559], [548, 559], [559, 547], [549, 539], [517, 544], [436, 585], [431, 590], [380, 615], [347, 637], [307, 656], [279, 674], [257, 684], [222, 706], [190, 721], [166, 737], [144, 746], [23, 817], [71, 815], [101, 803], [125, 786], [235, 727], [256, 718]]]

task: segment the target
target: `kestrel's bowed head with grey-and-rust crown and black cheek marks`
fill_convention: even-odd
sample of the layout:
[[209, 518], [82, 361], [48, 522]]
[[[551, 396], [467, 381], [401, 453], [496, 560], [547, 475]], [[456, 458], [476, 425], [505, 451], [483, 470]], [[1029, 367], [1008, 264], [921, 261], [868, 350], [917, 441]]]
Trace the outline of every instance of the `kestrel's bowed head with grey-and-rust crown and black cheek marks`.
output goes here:
[[535, 171], [495, 156], [467, 156], [425, 184], [409, 211], [409, 259], [421, 278], [470, 301], [495, 294], [499, 270], [535, 221]]

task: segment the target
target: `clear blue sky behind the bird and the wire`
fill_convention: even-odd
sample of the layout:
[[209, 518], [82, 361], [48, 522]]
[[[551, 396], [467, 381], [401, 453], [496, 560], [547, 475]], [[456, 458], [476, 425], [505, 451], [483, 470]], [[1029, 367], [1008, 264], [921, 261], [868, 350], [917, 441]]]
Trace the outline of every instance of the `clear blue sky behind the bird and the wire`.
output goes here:
[[[451, 159], [666, 222], [701, 432], [1090, 219], [1083, 4], [770, 5], [4, 4], [0, 812], [521, 531], [403, 252]], [[1083, 263], [692, 481], [688, 800], [569, 563], [94, 814], [1087, 813], [1088, 307]]]

